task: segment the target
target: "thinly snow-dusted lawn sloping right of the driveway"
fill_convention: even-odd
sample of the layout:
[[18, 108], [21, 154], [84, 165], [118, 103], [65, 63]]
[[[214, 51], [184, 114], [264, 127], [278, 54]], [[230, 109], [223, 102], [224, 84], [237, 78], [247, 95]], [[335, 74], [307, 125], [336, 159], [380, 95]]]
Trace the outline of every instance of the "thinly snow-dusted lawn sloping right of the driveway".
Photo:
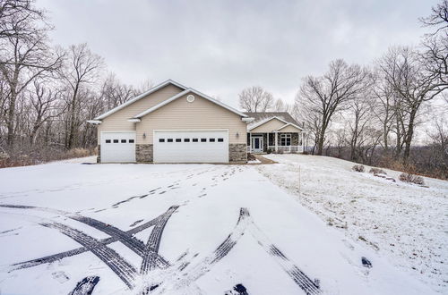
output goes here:
[[332, 157], [266, 157], [279, 164], [257, 169], [323, 221], [448, 293], [448, 181], [425, 178], [424, 188], [399, 181], [396, 171], [384, 169], [396, 182], [375, 177], [368, 166], [353, 172], [353, 163]]

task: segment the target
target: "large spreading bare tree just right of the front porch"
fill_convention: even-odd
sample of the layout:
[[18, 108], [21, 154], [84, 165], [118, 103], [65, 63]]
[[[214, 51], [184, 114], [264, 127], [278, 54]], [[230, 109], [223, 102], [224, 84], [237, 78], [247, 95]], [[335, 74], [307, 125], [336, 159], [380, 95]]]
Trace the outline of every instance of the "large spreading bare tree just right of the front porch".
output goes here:
[[322, 155], [325, 132], [333, 114], [366, 89], [368, 76], [369, 72], [359, 65], [348, 65], [343, 60], [336, 60], [330, 63], [329, 71], [323, 76], [308, 76], [304, 79], [296, 99], [306, 114], [313, 117], [314, 125], [318, 125], [317, 155]]

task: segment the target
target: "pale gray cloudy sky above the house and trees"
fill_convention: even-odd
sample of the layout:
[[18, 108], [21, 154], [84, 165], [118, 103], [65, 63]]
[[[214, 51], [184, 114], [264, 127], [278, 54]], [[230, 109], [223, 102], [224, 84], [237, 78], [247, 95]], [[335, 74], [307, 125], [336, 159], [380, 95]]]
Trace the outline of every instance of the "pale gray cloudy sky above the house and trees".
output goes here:
[[418, 45], [435, 0], [38, 0], [55, 44], [87, 42], [126, 83], [173, 79], [237, 106], [260, 85], [292, 102], [332, 59], [371, 63], [390, 45]]

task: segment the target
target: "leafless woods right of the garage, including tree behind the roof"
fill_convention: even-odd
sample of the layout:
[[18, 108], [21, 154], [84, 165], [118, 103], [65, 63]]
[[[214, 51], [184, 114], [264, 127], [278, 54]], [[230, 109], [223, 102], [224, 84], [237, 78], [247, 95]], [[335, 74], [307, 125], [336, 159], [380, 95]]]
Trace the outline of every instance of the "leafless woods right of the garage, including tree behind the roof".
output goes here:
[[[291, 113], [305, 125], [312, 154], [448, 178], [448, 1], [419, 21], [432, 29], [419, 46], [392, 46], [364, 66], [334, 60], [321, 76], [302, 80], [294, 104], [261, 87], [244, 89], [239, 104]], [[431, 130], [416, 145], [423, 122]]]

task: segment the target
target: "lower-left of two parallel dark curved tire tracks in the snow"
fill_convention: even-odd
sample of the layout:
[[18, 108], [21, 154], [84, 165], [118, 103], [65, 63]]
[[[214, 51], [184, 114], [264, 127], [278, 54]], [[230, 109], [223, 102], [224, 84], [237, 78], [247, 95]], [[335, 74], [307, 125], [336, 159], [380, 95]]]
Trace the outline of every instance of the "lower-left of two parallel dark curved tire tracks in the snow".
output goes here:
[[42, 226], [53, 228], [67, 237], [80, 243], [85, 248], [89, 249], [96, 257], [99, 257], [108, 267], [129, 287], [134, 288], [134, 279], [137, 275], [133, 265], [130, 265], [123, 257], [118, 255], [115, 250], [103, 245], [99, 240], [80, 232], [72, 227], [62, 223], [40, 223]]

